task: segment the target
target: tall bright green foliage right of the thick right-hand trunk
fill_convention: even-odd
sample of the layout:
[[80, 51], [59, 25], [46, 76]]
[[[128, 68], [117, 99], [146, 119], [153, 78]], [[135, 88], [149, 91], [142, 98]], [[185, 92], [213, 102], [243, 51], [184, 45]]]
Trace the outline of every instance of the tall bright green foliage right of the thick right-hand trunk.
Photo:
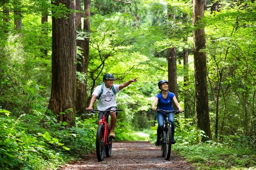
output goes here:
[[[255, 119], [252, 118], [255, 110], [252, 102], [255, 93], [254, 16], [255, 3], [244, 2], [226, 4], [214, 16], [208, 14], [204, 18], [209, 39], [205, 49], [209, 106], [211, 112], [219, 111], [220, 134], [255, 136]], [[212, 122], [216, 121], [215, 114], [211, 118]], [[212, 124], [212, 129], [215, 126]]]

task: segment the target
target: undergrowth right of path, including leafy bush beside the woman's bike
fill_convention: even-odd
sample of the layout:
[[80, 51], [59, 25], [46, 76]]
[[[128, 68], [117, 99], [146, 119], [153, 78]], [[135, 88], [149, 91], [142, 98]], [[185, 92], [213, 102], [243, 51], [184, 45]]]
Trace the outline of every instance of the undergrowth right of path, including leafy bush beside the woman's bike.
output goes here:
[[173, 145], [175, 152], [185, 157], [197, 169], [256, 169], [255, 139], [249, 136], [221, 136], [218, 141], [201, 142], [203, 131], [190, 120], [179, 119]]

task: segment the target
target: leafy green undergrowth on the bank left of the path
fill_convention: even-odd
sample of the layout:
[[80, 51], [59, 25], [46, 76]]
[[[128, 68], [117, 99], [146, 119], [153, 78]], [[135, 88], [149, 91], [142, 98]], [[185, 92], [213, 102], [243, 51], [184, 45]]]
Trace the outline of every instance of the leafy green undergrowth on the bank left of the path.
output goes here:
[[40, 112], [19, 118], [10, 114], [0, 110], [1, 169], [57, 169], [95, 147], [95, 119], [77, 118], [77, 127], [66, 129]]

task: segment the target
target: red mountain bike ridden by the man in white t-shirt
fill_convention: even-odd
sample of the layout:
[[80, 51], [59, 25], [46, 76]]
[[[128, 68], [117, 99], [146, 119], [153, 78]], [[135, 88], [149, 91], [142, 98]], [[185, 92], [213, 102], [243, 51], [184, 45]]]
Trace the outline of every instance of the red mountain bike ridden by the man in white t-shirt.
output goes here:
[[110, 137], [110, 124], [108, 123], [106, 117], [110, 115], [112, 112], [122, 111], [119, 110], [91, 110], [92, 112], [103, 112], [102, 120], [99, 122], [99, 126], [96, 133], [96, 155], [98, 161], [104, 160], [104, 155], [106, 157], [111, 156], [112, 152], [112, 141], [113, 138]]

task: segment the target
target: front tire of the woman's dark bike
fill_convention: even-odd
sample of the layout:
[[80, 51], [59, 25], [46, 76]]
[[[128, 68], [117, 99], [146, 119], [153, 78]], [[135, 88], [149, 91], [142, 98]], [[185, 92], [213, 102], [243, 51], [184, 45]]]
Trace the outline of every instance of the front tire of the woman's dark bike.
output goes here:
[[164, 141], [164, 158], [165, 160], [169, 160], [170, 151], [172, 150], [172, 129], [170, 126], [165, 127], [165, 141]]

